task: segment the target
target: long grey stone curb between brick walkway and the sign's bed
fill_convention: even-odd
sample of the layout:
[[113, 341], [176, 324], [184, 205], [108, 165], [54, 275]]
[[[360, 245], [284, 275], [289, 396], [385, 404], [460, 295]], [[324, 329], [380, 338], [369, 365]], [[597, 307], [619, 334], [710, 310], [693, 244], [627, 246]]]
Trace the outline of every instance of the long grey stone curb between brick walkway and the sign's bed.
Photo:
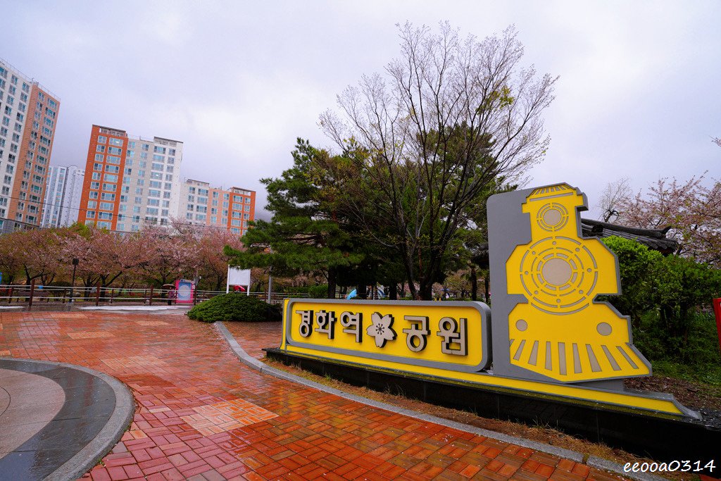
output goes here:
[[[397, 407], [394, 405], [386, 404], [385, 402], [379, 402], [375, 400], [369, 400], [366, 397], [357, 396], [355, 394], [349, 394], [348, 392], [340, 391], [339, 389], [335, 389], [332, 387], [324, 386], [323, 384], [319, 384], [314, 381], [309, 381], [308, 379], [304, 379], [300, 376], [296, 376], [294, 374], [288, 374], [285, 371], [280, 371], [279, 369], [272, 368], [270, 366], [265, 365], [265, 363], [262, 363], [261, 361], [258, 361], [256, 358], [249, 356], [248, 353], [245, 352], [245, 350], [240, 347], [238, 341], [236, 341], [235, 337], [230, 333], [227, 327], [222, 322], [215, 322], [215, 325], [218, 329], [218, 332], [225, 338], [226, 342], [229, 344], [231, 350], [235, 353], [236, 356], [240, 359], [240, 361], [247, 366], [249, 366], [252, 369], [255, 369], [256, 371], [260, 371], [263, 374], [270, 374], [270, 376], [275, 376], [280, 379], [286, 379], [286, 381], [296, 382], [298, 384], [303, 384], [307, 387], [313, 387], [315, 389], [319, 389], [320, 391], [327, 392], [329, 394], [335, 394], [340, 397], [345, 397], [345, 399], [353, 400], [356, 402], [363, 402], [365, 405], [378, 407], [379, 409], [384, 409], [386, 411], [396, 412], [398, 414], [407, 415], [410, 418], [420, 419], [424, 421], [428, 421], [429, 423], [436, 423], [443, 426], [446, 426], [448, 428], [454, 428], [458, 429], [459, 431], [465, 431], [466, 433], [473, 433], [477, 434], [478, 436], [485, 436], [487, 438], [496, 439], [497, 441], [504, 441], [506, 443], [510, 444], [516, 444], [518, 446], [523, 446], [528, 449], [534, 449], [535, 451], [541, 451], [542, 453], [546, 454], [552, 454], [554, 456], [559, 456], [565, 459], [571, 459], [572, 461], [583, 463], [583, 454], [578, 453], [576, 451], [571, 451], [570, 449], [563, 449], [563, 448], [557, 448], [555, 446], [549, 446], [548, 444], [541, 444], [537, 443], [536, 441], [530, 441], [528, 439], [523, 438], [516, 438], [515, 436], [508, 436], [507, 434], [502, 433], [496, 433], [495, 431], [489, 431], [487, 429], [482, 428], [476, 428], [474, 426], [466, 425], [463, 423], [457, 423], [456, 421], [451, 421], [448, 419], [438, 418], [433, 415], [423, 414], [421, 412], [416, 412], [413, 410], [407, 410], [402, 407]], [[591, 463], [594, 464], [591, 464]], [[616, 474], [622, 475], [624, 477], [628, 477], [630, 479], [634, 479], [637, 481], [658, 481], [663, 480], [664, 478], [658, 477], [655, 475], [649, 475], [648, 473], [627, 473], [624, 472], [623, 466], [621, 464], [616, 464], [614, 462], [607, 461], [606, 459], [601, 459], [596, 456], [590, 456], [588, 458], [588, 462], [586, 463], [589, 466], [598, 467], [601, 469], [606, 469], [607, 471], [614, 472]]]

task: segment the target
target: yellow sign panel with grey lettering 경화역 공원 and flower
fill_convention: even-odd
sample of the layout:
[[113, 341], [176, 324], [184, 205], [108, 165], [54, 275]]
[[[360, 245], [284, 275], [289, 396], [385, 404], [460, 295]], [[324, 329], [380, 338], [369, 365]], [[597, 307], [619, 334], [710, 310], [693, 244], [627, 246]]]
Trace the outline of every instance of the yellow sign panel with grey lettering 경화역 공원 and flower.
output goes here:
[[[476, 372], [490, 363], [490, 312], [479, 302], [336, 301], [291, 299], [283, 316], [283, 348], [358, 356], [358, 363], [393, 361]], [[337, 356], [335, 356], [337, 357]]]

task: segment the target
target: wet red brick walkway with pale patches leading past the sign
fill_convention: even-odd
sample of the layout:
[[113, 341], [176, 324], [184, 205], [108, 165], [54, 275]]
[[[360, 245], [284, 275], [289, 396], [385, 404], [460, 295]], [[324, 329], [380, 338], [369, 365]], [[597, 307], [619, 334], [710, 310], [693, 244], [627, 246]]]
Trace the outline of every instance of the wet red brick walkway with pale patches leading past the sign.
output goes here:
[[[229, 328], [253, 356], [279, 323]], [[0, 356], [63, 361], [128, 384], [138, 410], [93, 480], [617, 480], [245, 367], [182, 314], [0, 313]]]

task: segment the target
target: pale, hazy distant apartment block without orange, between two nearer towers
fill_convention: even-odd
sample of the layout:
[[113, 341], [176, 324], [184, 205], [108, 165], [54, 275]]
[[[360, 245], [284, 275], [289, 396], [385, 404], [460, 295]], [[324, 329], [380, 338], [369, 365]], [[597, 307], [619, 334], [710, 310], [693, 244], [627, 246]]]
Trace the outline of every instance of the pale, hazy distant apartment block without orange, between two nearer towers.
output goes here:
[[84, 175], [76, 165], [50, 166], [41, 226], [67, 227], [78, 219]]

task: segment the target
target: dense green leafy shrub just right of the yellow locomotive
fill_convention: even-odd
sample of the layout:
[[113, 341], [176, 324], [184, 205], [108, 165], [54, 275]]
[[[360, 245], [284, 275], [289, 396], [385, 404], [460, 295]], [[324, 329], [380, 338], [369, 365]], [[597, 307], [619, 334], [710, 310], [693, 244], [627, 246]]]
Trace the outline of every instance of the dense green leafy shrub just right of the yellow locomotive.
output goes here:
[[632, 319], [634, 345], [658, 374], [721, 384], [721, 356], [711, 299], [721, 271], [629, 239], [603, 242], [619, 258], [623, 294], [600, 296]]

